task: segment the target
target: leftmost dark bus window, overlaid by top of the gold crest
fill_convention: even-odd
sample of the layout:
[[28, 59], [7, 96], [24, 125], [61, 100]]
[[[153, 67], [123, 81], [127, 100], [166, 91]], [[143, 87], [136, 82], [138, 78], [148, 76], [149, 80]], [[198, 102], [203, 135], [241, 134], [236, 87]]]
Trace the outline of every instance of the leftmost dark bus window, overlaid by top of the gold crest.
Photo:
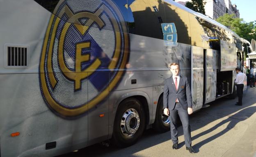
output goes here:
[[[107, 2], [104, 0], [95, 0], [93, 6], [89, 6], [90, 3], [88, 3], [87, 1], [79, 1], [79, 2], [75, 0], [64, 0], [64, 1], [35, 0], [35, 1], [38, 4], [40, 4], [43, 8], [57, 15], [64, 22], [75, 23], [82, 26], [92, 25], [93, 27], [97, 27], [95, 25], [95, 22], [94, 24], [91, 24], [91, 22], [88, 22], [88, 19], [93, 20], [94, 18], [96, 18], [94, 17], [94, 15], [97, 14], [98, 17], [103, 21], [104, 29], [113, 30], [113, 31], [117, 30], [117, 28], [114, 28], [117, 25], [112, 21], [112, 19], [114, 19], [115, 17], [121, 17], [119, 18], [119, 22], [123, 22], [123, 25], [124, 26], [126, 25], [128, 28], [128, 25], [124, 23], [128, 20], [127, 0], [111, 0], [110, 2]], [[84, 10], [85, 8], [87, 8], [87, 12], [84, 14], [81, 14], [81, 11]], [[113, 23], [113, 27], [108, 27], [110, 23]], [[119, 29], [121, 29], [121, 31], [123, 32], [128, 32], [126, 28], [119, 28]]]

